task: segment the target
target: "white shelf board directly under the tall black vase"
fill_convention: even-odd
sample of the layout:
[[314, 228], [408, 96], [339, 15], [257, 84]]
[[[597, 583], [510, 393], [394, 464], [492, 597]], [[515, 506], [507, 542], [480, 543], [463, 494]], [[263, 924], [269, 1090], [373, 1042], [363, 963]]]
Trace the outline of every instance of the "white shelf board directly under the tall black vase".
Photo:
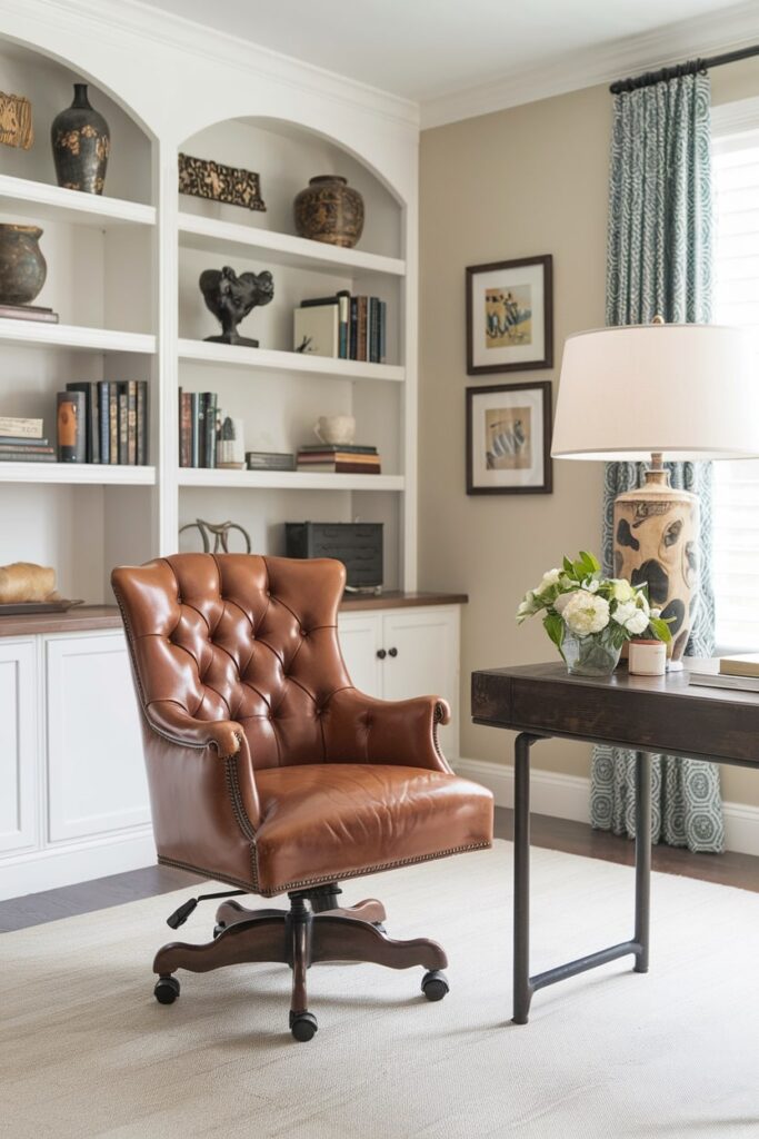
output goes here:
[[65, 221], [108, 229], [112, 226], [155, 226], [156, 211], [139, 202], [81, 194], [28, 178], [0, 174], [0, 212], [14, 211], [35, 221]]

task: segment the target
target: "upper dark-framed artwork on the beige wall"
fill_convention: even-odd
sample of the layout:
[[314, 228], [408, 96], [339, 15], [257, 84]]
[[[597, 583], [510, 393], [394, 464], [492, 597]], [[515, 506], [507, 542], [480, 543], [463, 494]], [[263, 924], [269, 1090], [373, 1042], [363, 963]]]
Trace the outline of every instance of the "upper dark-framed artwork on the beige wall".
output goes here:
[[467, 374], [553, 367], [553, 257], [467, 269]]

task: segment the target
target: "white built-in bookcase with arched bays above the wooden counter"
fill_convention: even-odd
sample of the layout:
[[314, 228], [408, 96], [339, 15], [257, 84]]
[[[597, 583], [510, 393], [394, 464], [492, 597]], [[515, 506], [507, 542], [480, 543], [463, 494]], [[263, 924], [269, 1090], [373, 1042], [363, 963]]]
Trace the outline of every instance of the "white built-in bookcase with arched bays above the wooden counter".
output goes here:
[[[287, 521], [385, 523], [387, 588], [414, 589], [416, 126], [398, 100], [112, 0], [30, 0], [0, 40], [0, 90], [26, 95], [36, 139], [0, 146], [0, 221], [36, 222], [59, 325], [0, 320], [0, 415], [41, 416], [55, 442], [68, 380], [150, 382], [149, 466], [0, 464], [0, 564], [55, 565], [65, 596], [112, 599], [113, 565], [178, 548], [197, 517], [242, 524], [284, 551]], [[3, 26], [11, 26], [9, 19]], [[72, 84], [108, 121], [102, 197], [56, 185], [49, 142]], [[176, 154], [256, 170], [266, 213], [179, 195]], [[355, 249], [295, 236], [292, 199], [314, 174], [361, 190]], [[274, 301], [230, 347], [198, 288], [203, 269], [271, 269]], [[349, 288], [388, 303], [388, 362], [295, 354], [292, 310]], [[320, 415], [350, 412], [382, 474], [180, 469], [178, 388], [215, 391], [247, 450], [295, 451]]]

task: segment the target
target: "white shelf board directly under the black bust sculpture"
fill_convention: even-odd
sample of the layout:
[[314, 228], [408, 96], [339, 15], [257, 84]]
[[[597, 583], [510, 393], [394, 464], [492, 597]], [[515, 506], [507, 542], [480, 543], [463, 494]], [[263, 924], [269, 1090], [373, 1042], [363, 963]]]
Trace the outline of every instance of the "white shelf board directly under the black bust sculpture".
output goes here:
[[225, 364], [231, 368], [256, 368], [264, 371], [297, 371], [336, 379], [373, 379], [402, 384], [405, 368], [389, 363], [362, 363], [358, 360], [333, 360], [330, 357], [302, 355], [273, 349], [247, 349], [209, 341], [179, 341], [180, 360]]

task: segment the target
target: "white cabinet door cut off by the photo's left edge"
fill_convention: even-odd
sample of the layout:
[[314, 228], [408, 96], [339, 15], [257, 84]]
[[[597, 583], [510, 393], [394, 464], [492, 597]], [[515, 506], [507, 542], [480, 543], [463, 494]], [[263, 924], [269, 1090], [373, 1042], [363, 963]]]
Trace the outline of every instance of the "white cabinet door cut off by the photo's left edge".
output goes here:
[[0, 852], [36, 842], [34, 641], [0, 641]]

